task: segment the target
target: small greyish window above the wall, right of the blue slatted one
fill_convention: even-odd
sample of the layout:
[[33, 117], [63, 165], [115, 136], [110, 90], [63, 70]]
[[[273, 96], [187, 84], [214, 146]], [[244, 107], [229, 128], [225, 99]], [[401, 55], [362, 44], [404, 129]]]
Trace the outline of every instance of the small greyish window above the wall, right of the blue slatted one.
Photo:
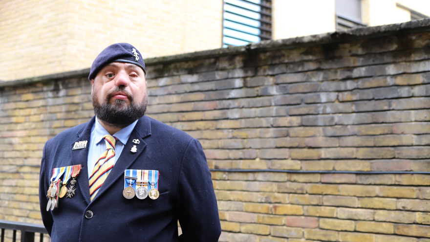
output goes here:
[[366, 26], [361, 18], [361, 0], [336, 0], [336, 30]]

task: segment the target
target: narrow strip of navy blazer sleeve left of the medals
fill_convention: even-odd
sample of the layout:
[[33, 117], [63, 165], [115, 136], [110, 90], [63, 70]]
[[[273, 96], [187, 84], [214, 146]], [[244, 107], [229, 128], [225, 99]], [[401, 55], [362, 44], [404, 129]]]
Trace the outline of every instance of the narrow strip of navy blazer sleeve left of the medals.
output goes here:
[[47, 148], [46, 147], [48, 142], [45, 143], [45, 146], [43, 148], [43, 156], [42, 156], [40, 179], [39, 179], [39, 204], [40, 204], [40, 209], [42, 214], [43, 225], [45, 226], [50, 236], [54, 220], [52, 218], [51, 212], [46, 211], [46, 206], [48, 204], [48, 199], [46, 198], [46, 192], [48, 191], [48, 188], [49, 188], [49, 179], [50, 179], [49, 177], [50, 174], [47, 174], [47, 171], [46, 171], [47, 169], [47, 164], [46, 164]]

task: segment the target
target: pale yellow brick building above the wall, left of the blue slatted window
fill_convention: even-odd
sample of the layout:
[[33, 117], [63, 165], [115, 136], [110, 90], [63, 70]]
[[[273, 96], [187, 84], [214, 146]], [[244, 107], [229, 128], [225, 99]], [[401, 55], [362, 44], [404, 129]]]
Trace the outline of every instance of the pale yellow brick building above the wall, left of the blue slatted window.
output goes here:
[[144, 58], [221, 46], [222, 1], [2, 0], [0, 80], [91, 66], [109, 44]]

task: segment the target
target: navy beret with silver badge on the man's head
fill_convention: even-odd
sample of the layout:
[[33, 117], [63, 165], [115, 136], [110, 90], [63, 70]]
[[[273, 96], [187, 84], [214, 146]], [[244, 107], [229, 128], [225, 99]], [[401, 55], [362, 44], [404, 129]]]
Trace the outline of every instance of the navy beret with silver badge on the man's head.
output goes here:
[[88, 79], [94, 79], [103, 67], [112, 62], [126, 62], [140, 66], [146, 74], [145, 62], [139, 50], [131, 44], [118, 43], [109, 45], [96, 57], [91, 65]]

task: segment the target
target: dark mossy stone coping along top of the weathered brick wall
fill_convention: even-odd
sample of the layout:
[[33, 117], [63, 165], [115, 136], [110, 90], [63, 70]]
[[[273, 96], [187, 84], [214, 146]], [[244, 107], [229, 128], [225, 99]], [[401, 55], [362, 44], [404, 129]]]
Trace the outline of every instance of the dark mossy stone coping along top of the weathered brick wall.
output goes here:
[[[318, 35], [302, 36], [283, 40], [267, 40], [243, 46], [218, 48], [211, 50], [196, 51], [172, 56], [148, 58], [145, 60], [147, 66], [168, 64], [177, 61], [191, 61], [202, 58], [214, 58], [232, 54], [240, 54], [249, 50], [271, 50], [280, 48], [294, 48], [299, 46], [333, 44], [351, 40], [368, 39], [388, 35], [416, 33], [430, 31], [430, 19], [414, 20], [410, 22], [394, 23], [372, 27], [358, 27], [344, 31], [329, 32]], [[15, 87], [30, 83], [53, 81], [56, 79], [86, 77], [90, 68], [81, 70], [55, 73], [45, 76], [25, 78], [13, 81], [0, 81], [0, 88]]]

